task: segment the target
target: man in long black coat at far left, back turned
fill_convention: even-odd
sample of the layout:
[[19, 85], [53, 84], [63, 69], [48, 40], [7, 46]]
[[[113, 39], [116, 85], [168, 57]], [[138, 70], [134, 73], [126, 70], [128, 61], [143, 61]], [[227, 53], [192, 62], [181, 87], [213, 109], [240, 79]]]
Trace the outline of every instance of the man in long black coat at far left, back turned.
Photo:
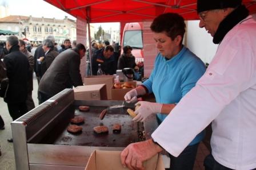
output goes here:
[[[9, 54], [3, 59], [6, 65], [6, 73], [9, 78], [5, 102], [13, 120], [27, 112], [27, 80], [29, 77], [29, 61], [25, 54], [19, 51], [19, 40], [16, 36], [9, 36], [6, 40], [6, 48]], [[8, 140], [12, 142], [12, 139]]]

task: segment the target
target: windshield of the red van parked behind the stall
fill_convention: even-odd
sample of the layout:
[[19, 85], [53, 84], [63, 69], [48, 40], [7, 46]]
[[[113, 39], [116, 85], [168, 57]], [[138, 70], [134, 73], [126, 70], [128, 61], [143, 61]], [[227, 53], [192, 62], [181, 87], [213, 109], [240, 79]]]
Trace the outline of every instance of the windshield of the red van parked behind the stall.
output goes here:
[[126, 45], [130, 45], [133, 48], [142, 49], [142, 31], [134, 30], [134, 31], [125, 31], [125, 36], [123, 38], [123, 47]]

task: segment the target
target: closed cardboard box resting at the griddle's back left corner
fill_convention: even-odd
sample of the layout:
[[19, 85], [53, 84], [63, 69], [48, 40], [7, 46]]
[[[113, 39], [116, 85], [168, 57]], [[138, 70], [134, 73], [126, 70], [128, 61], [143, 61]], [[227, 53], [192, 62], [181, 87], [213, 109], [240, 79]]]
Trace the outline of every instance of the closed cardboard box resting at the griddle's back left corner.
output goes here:
[[105, 84], [77, 86], [73, 88], [75, 100], [105, 100], [107, 89]]

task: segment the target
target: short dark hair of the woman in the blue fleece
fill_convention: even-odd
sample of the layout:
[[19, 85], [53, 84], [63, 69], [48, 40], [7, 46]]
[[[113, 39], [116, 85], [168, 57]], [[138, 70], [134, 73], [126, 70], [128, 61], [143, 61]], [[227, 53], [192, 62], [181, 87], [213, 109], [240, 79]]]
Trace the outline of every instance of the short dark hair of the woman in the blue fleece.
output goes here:
[[171, 40], [174, 40], [178, 35], [180, 35], [183, 40], [186, 24], [181, 15], [166, 13], [157, 16], [157, 18], [153, 20], [150, 28], [153, 32], [157, 33], [165, 31]]

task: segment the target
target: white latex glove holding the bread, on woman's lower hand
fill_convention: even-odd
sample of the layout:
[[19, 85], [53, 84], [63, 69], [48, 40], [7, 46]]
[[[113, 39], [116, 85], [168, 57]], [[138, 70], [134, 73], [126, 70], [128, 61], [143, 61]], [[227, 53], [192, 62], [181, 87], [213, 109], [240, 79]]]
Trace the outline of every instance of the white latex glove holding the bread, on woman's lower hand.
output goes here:
[[149, 115], [161, 113], [161, 109], [163, 106], [163, 104], [161, 103], [153, 103], [153, 102], [145, 102], [145, 101], [139, 101], [135, 105], [136, 106], [141, 105], [134, 112], [135, 114], [137, 114], [137, 116], [133, 118], [133, 121], [135, 122], [143, 122], [147, 117], [149, 117]]

